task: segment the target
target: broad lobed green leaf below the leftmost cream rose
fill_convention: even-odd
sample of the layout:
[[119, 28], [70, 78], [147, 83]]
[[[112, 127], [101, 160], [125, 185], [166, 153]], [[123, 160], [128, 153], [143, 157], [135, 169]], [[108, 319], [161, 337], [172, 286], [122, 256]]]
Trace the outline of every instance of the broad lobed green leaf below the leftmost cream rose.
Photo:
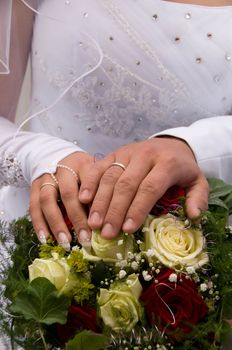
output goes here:
[[34, 279], [28, 287], [18, 294], [10, 309], [21, 314], [26, 320], [51, 325], [67, 321], [68, 297], [58, 295], [55, 286], [44, 277]]

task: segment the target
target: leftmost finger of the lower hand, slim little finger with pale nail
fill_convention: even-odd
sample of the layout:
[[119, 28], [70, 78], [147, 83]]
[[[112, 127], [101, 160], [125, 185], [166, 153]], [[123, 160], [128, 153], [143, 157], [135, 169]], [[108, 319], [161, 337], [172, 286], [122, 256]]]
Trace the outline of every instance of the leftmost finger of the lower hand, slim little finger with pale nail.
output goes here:
[[31, 194], [30, 194], [30, 205], [29, 213], [32, 219], [33, 227], [35, 233], [38, 237], [38, 240], [41, 244], [46, 244], [49, 237], [49, 228], [46, 223], [46, 220], [43, 216], [43, 212], [40, 208], [40, 188], [39, 184], [32, 184]]

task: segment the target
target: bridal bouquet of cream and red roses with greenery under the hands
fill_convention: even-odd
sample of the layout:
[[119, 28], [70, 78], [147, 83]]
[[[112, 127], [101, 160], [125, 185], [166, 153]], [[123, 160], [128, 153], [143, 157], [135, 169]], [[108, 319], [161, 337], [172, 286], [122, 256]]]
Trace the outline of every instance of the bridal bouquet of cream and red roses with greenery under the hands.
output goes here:
[[[134, 234], [66, 252], [28, 217], [1, 223], [1, 334], [23, 349], [221, 349], [232, 319], [232, 186], [211, 179], [209, 210], [185, 214], [173, 187]], [[62, 203], [61, 203], [62, 207]], [[72, 232], [63, 208], [65, 220]]]

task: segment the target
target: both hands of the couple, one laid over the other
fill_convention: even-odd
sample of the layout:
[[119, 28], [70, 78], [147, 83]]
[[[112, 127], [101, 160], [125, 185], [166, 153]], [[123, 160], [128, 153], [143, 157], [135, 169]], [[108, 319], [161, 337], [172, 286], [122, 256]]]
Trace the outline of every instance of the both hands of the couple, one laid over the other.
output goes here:
[[[125, 169], [112, 165], [115, 162]], [[78, 151], [59, 164], [78, 174], [79, 185], [74, 174], [63, 167], [55, 173], [59, 189], [41, 187], [52, 181], [50, 174], [33, 181], [30, 215], [41, 243], [46, 243], [52, 233], [61, 246], [70, 249], [71, 235], [57, 204], [59, 194], [79, 242], [85, 247], [90, 246], [93, 229], [100, 229], [106, 239], [116, 237], [120, 230], [134, 233], [173, 185], [186, 191], [189, 218], [199, 217], [208, 206], [207, 180], [191, 148], [178, 138], [164, 136], [128, 144], [97, 161]]]

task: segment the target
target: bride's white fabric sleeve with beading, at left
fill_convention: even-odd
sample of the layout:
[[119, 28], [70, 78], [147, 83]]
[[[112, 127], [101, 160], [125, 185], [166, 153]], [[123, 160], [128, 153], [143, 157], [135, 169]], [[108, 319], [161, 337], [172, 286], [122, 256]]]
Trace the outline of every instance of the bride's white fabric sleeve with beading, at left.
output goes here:
[[76, 151], [71, 142], [47, 134], [21, 131], [0, 117], [0, 187], [28, 186], [44, 173], [56, 171], [57, 163]]

